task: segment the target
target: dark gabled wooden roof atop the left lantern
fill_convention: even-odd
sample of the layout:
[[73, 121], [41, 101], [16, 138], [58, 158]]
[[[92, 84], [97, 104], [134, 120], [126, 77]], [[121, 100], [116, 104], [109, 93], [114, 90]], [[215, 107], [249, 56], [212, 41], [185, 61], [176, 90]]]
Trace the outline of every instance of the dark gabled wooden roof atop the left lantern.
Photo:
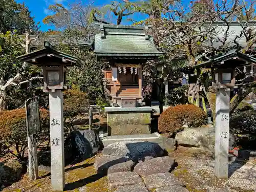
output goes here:
[[45, 48], [31, 53], [18, 56], [17, 59], [28, 62], [36, 66], [42, 65], [63, 65], [63, 66], [81, 66], [79, 58], [56, 50], [49, 42], [45, 41]]

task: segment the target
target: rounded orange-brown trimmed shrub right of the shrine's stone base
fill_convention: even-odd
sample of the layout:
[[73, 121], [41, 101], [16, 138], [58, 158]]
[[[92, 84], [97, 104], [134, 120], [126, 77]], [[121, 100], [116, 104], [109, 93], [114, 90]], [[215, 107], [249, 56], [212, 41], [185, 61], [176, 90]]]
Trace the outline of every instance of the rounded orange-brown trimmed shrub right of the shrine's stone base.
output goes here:
[[200, 127], [207, 123], [207, 114], [193, 104], [170, 106], [158, 119], [158, 131], [161, 133], [177, 133], [182, 125]]

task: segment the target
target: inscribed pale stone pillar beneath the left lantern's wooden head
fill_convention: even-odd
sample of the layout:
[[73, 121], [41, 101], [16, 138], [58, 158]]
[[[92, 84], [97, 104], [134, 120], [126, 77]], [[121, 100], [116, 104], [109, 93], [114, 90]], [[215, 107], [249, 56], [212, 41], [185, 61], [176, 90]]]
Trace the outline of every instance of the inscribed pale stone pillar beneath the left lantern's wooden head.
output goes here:
[[49, 93], [51, 132], [51, 181], [52, 190], [63, 191], [65, 187], [63, 96], [61, 90]]

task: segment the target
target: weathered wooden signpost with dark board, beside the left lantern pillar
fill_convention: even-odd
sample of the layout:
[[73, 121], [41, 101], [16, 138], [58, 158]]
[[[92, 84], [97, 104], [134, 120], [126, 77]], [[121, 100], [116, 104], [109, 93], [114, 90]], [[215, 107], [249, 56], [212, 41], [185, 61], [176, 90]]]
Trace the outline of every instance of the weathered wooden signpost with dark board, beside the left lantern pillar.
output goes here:
[[38, 178], [37, 141], [35, 138], [35, 133], [40, 127], [38, 103], [36, 100], [28, 99], [25, 108], [29, 147], [29, 179], [34, 180]]

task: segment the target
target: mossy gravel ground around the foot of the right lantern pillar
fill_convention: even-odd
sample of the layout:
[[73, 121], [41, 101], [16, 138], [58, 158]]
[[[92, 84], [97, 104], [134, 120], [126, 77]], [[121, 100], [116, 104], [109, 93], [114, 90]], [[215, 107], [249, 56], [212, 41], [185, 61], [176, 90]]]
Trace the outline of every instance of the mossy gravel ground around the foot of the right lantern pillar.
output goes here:
[[229, 162], [229, 178], [217, 179], [214, 159], [202, 155], [172, 154], [178, 162], [175, 174], [183, 179], [189, 191], [203, 192], [252, 192], [256, 191], [256, 159]]

